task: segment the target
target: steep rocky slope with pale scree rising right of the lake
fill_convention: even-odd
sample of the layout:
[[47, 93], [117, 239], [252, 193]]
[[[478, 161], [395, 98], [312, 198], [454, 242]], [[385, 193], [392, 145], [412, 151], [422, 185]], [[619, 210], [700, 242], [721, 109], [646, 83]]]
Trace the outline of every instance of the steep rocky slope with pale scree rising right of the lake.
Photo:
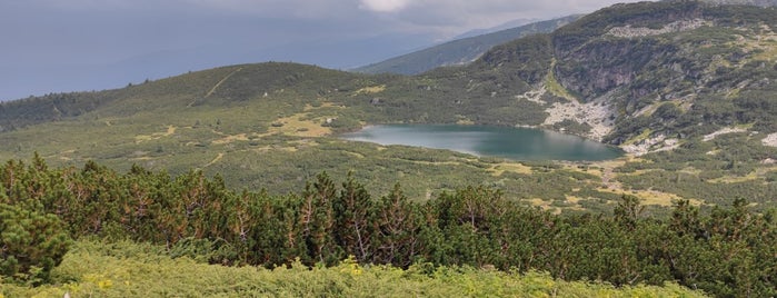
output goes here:
[[614, 6], [551, 34], [552, 73], [530, 92], [560, 86], [554, 90], [569, 102], [548, 108], [544, 125], [585, 122], [592, 129], [582, 135], [616, 145], [650, 147], [733, 126], [771, 133], [776, 28], [774, 8]]

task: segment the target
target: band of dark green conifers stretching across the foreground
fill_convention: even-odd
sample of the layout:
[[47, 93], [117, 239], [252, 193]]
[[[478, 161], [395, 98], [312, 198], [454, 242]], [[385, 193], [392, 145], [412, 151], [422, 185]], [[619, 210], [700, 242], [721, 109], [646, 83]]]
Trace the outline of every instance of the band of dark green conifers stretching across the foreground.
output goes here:
[[[268, 186], [271, 187], [271, 186]], [[624, 196], [612, 215], [556, 216], [498, 189], [466, 187], [427, 201], [397, 185], [373, 197], [348, 176], [323, 172], [298, 193], [235, 191], [216, 176], [172, 177], [94, 162], [0, 166], [0, 274], [46, 282], [71, 239], [165, 245], [172, 256], [273, 268], [356, 261], [407, 268], [472, 266], [541, 270], [566, 280], [663, 285], [715, 296], [777, 295], [777, 218], [744, 199], [709, 213], [676, 201], [668, 219], [645, 217]]]

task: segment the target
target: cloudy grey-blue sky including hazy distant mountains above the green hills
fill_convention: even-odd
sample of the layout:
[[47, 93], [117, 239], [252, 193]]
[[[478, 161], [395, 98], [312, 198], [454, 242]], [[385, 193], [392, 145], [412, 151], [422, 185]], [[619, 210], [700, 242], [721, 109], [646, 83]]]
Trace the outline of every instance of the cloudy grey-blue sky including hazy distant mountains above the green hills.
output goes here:
[[219, 66], [355, 68], [515, 20], [634, 0], [0, 0], [0, 100]]

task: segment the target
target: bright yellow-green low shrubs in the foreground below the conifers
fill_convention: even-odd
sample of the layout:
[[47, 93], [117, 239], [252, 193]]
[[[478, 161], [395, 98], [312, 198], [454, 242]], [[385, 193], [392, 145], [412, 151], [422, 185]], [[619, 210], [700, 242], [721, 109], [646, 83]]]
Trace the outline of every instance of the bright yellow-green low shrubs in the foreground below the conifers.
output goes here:
[[614, 288], [555, 280], [546, 274], [412, 266], [332, 268], [302, 265], [268, 270], [171, 259], [163, 248], [132, 242], [80, 241], [54, 269], [52, 285], [0, 284], [0, 297], [704, 297], [675, 284]]

